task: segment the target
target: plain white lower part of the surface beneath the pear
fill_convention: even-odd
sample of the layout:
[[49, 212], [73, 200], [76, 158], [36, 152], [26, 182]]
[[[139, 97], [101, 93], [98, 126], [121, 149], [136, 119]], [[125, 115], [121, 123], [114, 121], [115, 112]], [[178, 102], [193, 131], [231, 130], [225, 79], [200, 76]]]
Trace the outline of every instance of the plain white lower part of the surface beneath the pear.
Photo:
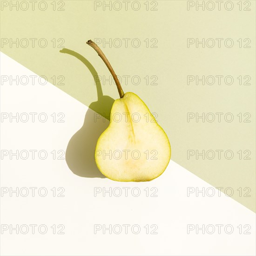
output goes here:
[[[5, 54], [0, 56], [1, 75], [35, 75]], [[45, 197], [38, 195], [38, 189], [34, 197], [31, 190], [24, 197], [1, 193], [1, 225], [44, 224], [48, 228], [44, 235], [37, 231], [38, 226], [35, 234], [32, 229], [27, 234], [16, 234], [15, 230], [10, 234], [9, 229], [2, 230], [6, 226], [1, 226], [1, 255], [255, 255], [255, 214], [224, 194], [188, 197], [188, 187], [211, 186], [173, 161], [152, 182], [124, 183], [80, 177], [70, 171], [65, 160], [53, 160], [50, 152], [66, 150], [87, 111], [91, 110], [50, 83], [1, 85], [2, 113], [44, 112], [49, 118], [44, 123], [38, 119], [1, 121], [1, 150], [43, 149], [48, 153], [46, 160], [37, 155], [34, 160], [31, 156], [27, 160], [10, 160], [9, 156], [1, 160], [2, 189], [45, 187], [48, 192]], [[53, 113], [64, 113], [65, 122], [51, 121]], [[53, 187], [63, 187], [64, 197], [54, 197]], [[94, 187], [129, 187], [129, 191], [138, 187], [141, 195], [135, 197], [128, 192], [127, 197], [103, 197], [101, 193], [95, 197]], [[147, 187], [157, 188], [157, 197], [147, 197], [143, 190]], [[54, 235], [53, 224], [64, 225], [65, 234]], [[102, 234], [102, 230], [94, 234], [94, 224], [138, 224], [141, 232], [136, 235], [128, 228], [128, 234], [124, 229], [121, 234]], [[158, 234], [146, 234], [143, 227], [147, 224], [157, 225]], [[226, 234], [222, 227], [218, 234], [216, 227], [214, 234], [196, 234], [195, 230], [187, 234], [188, 224], [230, 224], [234, 231]], [[251, 234], [239, 234], [240, 224], [250, 225]]]

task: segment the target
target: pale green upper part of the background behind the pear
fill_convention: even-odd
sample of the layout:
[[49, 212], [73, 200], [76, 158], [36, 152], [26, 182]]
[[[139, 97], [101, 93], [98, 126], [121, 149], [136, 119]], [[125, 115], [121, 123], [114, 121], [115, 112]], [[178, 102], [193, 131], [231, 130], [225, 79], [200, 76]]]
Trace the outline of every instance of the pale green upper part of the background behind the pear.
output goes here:
[[[122, 85], [146, 102], [168, 134], [172, 160], [215, 187], [231, 187], [233, 198], [255, 211], [255, 1], [251, 11], [239, 11], [236, 1], [232, 11], [187, 11], [187, 1], [158, 1], [157, 11], [146, 11], [145, 1], [138, 11], [94, 11], [94, 1], [64, 1], [65, 11], [48, 8], [40, 11], [1, 11], [1, 38], [46, 38], [40, 48], [10, 47], [1, 51], [36, 74], [64, 75], [59, 88], [78, 101], [90, 105], [97, 100], [94, 79], [87, 67], [73, 56], [59, 53], [53, 38], [63, 38], [66, 48], [83, 55], [99, 75], [109, 77], [108, 69], [86, 40], [94, 38], [139, 38], [141, 47], [104, 48], [115, 72], [139, 75], [140, 85]], [[145, 40], [156, 38], [157, 48], [146, 48]], [[187, 48], [187, 38], [232, 38], [234, 47]], [[250, 38], [251, 48], [239, 48], [236, 40]], [[100, 45], [102, 47], [102, 45]], [[145, 85], [143, 77], [157, 75], [158, 85]], [[187, 75], [232, 75], [234, 84], [187, 85]], [[251, 85], [239, 86], [236, 77], [250, 75]], [[51, 82], [51, 81], [50, 81]], [[115, 85], [102, 84], [103, 93], [116, 99]], [[58, 104], [58, 102], [56, 102]], [[32, 106], [33, 108], [33, 106]], [[231, 112], [235, 121], [187, 122], [188, 112]], [[238, 113], [251, 114], [250, 123], [240, 123]], [[75, 115], [75, 113], [74, 113]], [[72, 124], [71, 124], [72, 125]], [[187, 160], [188, 149], [231, 149], [234, 159]], [[238, 150], [250, 150], [251, 160], [239, 160]], [[191, 187], [193, 184], [191, 184]], [[249, 187], [250, 197], [239, 197], [236, 189]]]

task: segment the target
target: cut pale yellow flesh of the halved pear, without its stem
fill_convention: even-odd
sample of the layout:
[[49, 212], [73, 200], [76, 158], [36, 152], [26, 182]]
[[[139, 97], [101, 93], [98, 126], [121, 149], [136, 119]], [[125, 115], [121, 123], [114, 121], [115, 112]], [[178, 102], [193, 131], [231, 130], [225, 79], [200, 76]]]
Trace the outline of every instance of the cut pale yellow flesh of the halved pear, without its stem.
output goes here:
[[146, 182], [164, 172], [170, 157], [168, 137], [146, 104], [130, 92], [115, 100], [95, 148], [101, 173], [114, 181]]

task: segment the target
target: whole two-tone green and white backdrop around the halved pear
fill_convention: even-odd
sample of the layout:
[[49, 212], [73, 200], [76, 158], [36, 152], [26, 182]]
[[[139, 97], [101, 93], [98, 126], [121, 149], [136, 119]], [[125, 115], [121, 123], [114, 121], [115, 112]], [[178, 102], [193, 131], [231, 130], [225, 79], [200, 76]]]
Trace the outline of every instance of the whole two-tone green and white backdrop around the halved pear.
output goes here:
[[[255, 1], [0, 7], [1, 255], [255, 255]], [[95, 166], [118, 93], [89, 39], [169, 137], [152, 182]]]

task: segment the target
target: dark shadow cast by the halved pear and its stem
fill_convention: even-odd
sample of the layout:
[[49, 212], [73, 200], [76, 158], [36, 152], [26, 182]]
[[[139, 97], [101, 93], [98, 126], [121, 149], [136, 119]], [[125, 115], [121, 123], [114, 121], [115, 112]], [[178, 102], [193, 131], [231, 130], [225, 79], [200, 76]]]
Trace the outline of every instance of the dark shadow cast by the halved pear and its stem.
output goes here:
[[[103, 95], [101, 83], [96, 79], [98, 74], [86, 58], [67, 48], [63, 48], [60, 52], [73, 55], [88, 67], [94, 77], [98, 96], [98, 100], [89, 105], [83, 126], [72, 136], [67, 144], [67, 166], [75, 175], [81, 177], [106, 178], [97, 168], [94, 160], [94, 150], [101, 133], [108, 127], [110, 111], [115, 100]], [[103, 116], [106, 116], [106, 118]]]

